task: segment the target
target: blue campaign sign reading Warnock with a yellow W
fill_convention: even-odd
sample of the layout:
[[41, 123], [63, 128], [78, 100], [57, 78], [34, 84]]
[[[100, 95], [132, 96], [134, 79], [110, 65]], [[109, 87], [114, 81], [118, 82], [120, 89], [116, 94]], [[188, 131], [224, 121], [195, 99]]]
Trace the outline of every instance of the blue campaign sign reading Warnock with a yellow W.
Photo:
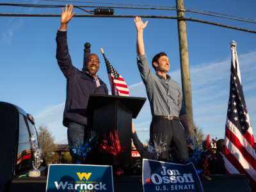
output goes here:
[[112, 166], [50, 164], [46, 191], [114, 191]]

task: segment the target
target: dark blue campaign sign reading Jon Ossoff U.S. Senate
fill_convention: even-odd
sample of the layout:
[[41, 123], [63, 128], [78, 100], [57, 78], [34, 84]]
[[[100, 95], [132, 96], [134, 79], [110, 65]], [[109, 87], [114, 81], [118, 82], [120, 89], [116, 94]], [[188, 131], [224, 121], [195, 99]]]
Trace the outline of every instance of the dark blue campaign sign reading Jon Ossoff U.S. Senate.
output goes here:
[[193, 163], [175, 164], [143, 159], [142, 182], [144, 192], [203, 191]]

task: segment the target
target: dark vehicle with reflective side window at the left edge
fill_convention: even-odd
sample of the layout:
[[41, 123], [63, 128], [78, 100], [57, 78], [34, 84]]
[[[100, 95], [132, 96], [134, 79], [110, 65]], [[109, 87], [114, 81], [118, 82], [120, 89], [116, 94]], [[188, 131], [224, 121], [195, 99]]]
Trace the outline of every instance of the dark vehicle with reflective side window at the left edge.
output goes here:
[[8, 191], [12, 179], [33, 169], [31, 138], [38, 147], [37, 132], [33, 116], [7, 102], [0, 102], [0, 122], [0, 191]]

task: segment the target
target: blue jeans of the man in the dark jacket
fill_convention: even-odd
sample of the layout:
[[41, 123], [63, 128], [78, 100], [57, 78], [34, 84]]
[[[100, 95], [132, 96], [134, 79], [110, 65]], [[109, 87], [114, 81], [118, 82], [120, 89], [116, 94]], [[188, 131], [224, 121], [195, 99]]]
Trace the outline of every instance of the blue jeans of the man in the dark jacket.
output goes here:
[[70, 146], [70, 155], [72, 157], [72, 164], [77, 164], [77, 161], [83, 163], [83, 158], [77, 155], [77, 150], [80, 146], [89, 140], [91, 131], [84, 125], [75, 122], [68, 122], [68, 146]]

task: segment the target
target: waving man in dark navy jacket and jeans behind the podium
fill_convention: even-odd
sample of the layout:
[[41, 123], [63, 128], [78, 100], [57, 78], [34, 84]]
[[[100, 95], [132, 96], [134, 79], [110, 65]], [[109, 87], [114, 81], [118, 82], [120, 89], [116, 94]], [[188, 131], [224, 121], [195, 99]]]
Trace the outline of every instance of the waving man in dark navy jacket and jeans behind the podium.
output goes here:
[[[72, 163], [77, 163], [77, 147], [88, 141], [92, 129], [92, 115], [86, 111], [89, 95], [108, 95], [106, 84], [97, 76], [99, 57], [90, 54], [86, 58], [85, 70], [80, 71], [72, 65], [67, 45], [67, 24], [74, 16], [73, 6], [62, 8], [61, 26], [56, 36], [56, 59], [61, 71], [67, 79], [67, 97], [63, 114], [63, 125], [68, 127], [68, 145]], [[73, 150], [72, 150], [73, 149]]]

